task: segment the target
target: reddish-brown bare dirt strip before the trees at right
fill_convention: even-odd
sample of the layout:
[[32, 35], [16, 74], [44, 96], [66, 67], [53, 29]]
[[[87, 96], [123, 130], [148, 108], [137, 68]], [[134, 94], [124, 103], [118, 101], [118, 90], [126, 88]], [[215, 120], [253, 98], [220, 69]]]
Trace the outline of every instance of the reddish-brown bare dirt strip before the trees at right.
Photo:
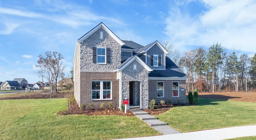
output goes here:
[[198, 93], [201, 98], [225, 99], [234, 101], [247, 101], [256, 103], [256, 92], [218, 92]]

